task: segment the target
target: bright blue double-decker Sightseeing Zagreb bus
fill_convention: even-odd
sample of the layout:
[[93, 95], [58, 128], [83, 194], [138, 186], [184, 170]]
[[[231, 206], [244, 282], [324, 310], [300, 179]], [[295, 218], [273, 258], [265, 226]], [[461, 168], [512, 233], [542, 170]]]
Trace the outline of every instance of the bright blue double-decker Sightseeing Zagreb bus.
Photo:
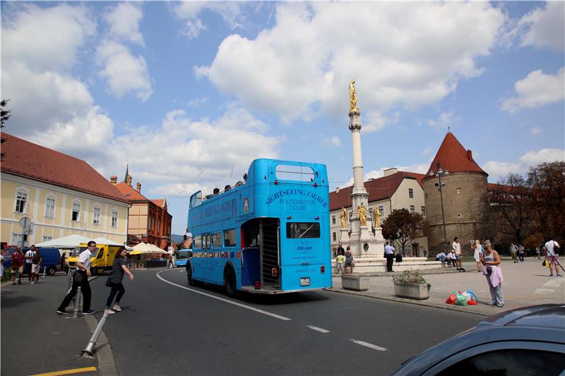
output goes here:
[[191, 195], [189, 285], [225, 286], [229, 296], [330, 288], [326, 166], [256, 159], [244, 180]]

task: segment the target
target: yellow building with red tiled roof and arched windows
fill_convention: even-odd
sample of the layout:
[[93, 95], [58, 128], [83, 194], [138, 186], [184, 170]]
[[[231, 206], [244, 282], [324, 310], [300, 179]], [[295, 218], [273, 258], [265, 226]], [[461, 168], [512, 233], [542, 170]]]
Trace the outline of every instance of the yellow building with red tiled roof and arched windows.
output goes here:
[[[0, 242], [31, 245], [78, 234], [118, 243], [127, 238], [131, 206], [81, 159], [7, 133], [2, 144]], [[20, 219], [31, 225], [22, 229]]]

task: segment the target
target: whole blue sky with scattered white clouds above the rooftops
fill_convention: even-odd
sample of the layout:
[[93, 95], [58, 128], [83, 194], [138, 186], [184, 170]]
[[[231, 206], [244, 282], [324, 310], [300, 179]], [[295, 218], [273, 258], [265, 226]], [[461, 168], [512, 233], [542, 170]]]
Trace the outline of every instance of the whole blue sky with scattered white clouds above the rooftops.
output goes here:
[[5, 131], [166, 198], [258, 157], [352, 183], [357, 80], [366, 178], [425, 172], [451, 131], [496, 182], [564, 159], [565, 3], [1, 2]]

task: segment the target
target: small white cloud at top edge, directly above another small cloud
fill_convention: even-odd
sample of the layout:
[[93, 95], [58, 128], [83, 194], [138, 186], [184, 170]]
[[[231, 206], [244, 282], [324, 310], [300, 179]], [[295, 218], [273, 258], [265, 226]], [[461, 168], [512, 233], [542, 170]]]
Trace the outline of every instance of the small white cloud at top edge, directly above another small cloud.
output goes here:
[[145, 46], [143, 35], [139, 31], [143, 11], [138, 4], [133, 2], [119, 3], [117, 6], [109, 8], [104, 18], [109, 23], [109, 35]]

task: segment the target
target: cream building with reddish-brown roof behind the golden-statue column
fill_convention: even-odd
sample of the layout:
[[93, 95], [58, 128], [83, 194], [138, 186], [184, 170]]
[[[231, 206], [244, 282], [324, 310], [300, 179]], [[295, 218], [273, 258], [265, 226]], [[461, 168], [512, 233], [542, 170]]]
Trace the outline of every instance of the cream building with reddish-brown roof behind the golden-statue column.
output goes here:
[[[393, 210], [405, 208], [412, 213], [426, 215], [423, 174], [387, 169], [382, 178], [369, 179], [364, 182], [369, 193], [369, 217], [376, 210], [381, 215], [381, 223]], [[341, 208], [347, 210], [347, 224], [352, 213], [351, 191], [353, 186], [336, 189], [330, 193], [330, 237], [331, 246], [335, 250], [340, 242]], [[406, 250], [407, 254], [423, 257], [423, 250], [429, 250], [427, 237], [416, 238]]]

